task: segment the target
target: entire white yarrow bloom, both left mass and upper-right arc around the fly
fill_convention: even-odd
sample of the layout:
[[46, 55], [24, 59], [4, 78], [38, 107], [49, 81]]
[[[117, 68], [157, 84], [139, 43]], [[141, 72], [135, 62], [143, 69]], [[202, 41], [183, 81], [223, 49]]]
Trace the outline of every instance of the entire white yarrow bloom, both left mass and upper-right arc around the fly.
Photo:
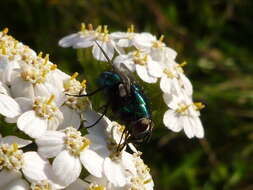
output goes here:
[[[146, 83], [159, 81], [168, 106], [165, 126], [174, 132], [183, 129], [189, 138], [204, 137], [199, 119], [204, 105], [193, 101], [185, 63], [176, 62], [177, 53], [163, 35], [138, 33], [133, 25], [110, 33], [106, 25], [82, 24], [59, 45], [91, 47], [96, 60], [112, 62], [115, 70], [136, 73]], [[0, 32], [0, 114], [31, 139], [0, 136], [0, 189], [154, 188], [150, 169], [128, 138], [133, 133], [129, 123], [121, 125], [95, 112], [85, 96], [87, 81], [79, 82], [77, 76], [57, 69], [48, 54], [18, 42], [7, 28]], [[25, 151], [31, 143], [37, 149]]]

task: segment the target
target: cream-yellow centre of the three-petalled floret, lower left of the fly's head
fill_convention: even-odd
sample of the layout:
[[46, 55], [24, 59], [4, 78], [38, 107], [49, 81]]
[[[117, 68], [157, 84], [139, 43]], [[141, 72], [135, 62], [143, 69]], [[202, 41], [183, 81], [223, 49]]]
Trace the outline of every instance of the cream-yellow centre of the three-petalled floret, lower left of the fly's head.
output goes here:
[[89, 148], [90, 139], [81, 136], [81, 132], [73, 127], [68, 127], [64, 130], [66, 134], [65, 146], [67, 150], [74, 156], [79, 156], [82, 151]]

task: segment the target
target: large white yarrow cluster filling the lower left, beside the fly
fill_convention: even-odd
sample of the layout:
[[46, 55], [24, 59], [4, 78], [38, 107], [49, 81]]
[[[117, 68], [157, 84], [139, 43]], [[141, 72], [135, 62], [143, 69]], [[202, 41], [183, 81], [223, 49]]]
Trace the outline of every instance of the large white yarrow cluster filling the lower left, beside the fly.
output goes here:
[[[0, 189], [152, 190], [141, 153], [131, 144], [133, 154], [117, 151], [124, 126], [103, 117], [80, 130], [101, 116], [88, 98], [66, 95], [85, 94], [85, 81], [77, 81], [77, 73], [60, 71], [48, 55], [7, 33], [0, 32], [0, 114], [28, 140], [15, 134], [3, 137], [0, 126]], [[93, 36], [88, 38], [83, 45], [94, 45]]]

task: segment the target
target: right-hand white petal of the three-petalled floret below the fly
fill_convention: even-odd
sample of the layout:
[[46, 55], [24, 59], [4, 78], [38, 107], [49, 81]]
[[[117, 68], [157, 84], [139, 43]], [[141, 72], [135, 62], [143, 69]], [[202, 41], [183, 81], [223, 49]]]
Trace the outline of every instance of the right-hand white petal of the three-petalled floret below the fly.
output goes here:
[[104, 160], [96, 152], [86, 149], [81, 152], [80, 160], [90, 174], [96, 177], [102, 177]]

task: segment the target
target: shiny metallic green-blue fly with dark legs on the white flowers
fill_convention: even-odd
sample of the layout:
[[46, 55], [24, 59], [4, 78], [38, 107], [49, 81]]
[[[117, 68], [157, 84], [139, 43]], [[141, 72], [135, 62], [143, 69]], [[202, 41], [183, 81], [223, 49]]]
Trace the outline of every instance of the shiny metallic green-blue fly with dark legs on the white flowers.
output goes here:
[[[91, 126], [96, 125], [106, 114], [108, 108], [117, 114], [121, 122], [126, 126], [123, 130], [117, 151], [121, 151], [128, 143], [142, 143], [149, 140], [152, 133], [153, 122], [147, 99], [140, 86], [127, 74], [127, 68], [117, 68], [106, 55], [99, 43], [107, 61], [112, 65], [112, 71], [105, 71], [98, 78], [99, 88], [85, 95], [92, 96], [103, 91], [106, 98], [104, 111], [100, 118]], [[123, 141], [124, 139], [124, 141]], [[121, 143], [123, 141], [123, 143]]]

